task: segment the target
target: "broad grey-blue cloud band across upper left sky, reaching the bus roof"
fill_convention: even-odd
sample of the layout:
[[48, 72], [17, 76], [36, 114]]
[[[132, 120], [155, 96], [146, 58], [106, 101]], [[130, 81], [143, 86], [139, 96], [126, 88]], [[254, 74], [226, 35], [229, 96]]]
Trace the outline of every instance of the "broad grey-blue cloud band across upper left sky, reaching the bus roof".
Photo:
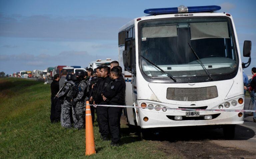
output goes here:
[[130, 19], [120, 17], [0, 16], [0, 36], [47, 40], [116, 40]]

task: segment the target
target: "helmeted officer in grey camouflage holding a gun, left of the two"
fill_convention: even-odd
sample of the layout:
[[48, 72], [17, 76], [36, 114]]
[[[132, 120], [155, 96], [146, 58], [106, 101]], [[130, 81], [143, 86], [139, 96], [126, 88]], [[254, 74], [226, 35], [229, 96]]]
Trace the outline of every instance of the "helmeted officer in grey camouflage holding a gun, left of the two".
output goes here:
[[75, 82], [72, 80], [73, 75], [68, 74], [66, 76], [67, 82], [64, 84], [61, 92], [58, 94], [59, 99], [61, 100], [61, 115], [62, 115], [62, 121], [61, 126], [65, 128], [72, 127], [71, 125], [71, 116], [70, 112], [72, 109], [72, 94], [71, 94], [71, 88], [75, 84]]

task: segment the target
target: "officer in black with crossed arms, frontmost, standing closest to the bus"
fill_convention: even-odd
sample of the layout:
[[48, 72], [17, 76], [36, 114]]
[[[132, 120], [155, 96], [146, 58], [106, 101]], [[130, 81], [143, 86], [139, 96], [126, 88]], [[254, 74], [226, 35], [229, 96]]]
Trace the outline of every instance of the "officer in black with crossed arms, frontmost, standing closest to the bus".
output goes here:
[[[119, 73], [120, 71], [118, 68], [114, 67], [111, 69], [110, 76], [112, 81], [110, 83], [110, 89], [102, 91], [102, 98], [104, 101], [107, 101], [108, 105], [124, 105], [125, 84], [123, 78], [120, 78]], [[119, 124], [121, 113], [122, 108], [120, 107], [108, 107], [111, 146], [118, 146], [119, 144]]]

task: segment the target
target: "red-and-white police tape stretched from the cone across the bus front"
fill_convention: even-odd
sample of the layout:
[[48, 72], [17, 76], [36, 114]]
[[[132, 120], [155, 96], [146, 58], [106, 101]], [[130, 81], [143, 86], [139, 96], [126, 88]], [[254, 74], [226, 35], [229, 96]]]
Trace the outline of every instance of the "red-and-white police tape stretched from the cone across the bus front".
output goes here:
[[99, 105], [90, 104], [94, 107], [105, 106], [105, 107], [120, 107], [120, 108], [142, 108], [142, 109], [170, 109], [170, 110], [189, 110], [189, 111], [228, 111], [228, 112], [256, 112], [256, 110], [237, 110], [237, 109], [191, 109], [191, 108], [169, 108], [169, 107], [142, 107], [142, 106], [130, 106], [130, 105]]

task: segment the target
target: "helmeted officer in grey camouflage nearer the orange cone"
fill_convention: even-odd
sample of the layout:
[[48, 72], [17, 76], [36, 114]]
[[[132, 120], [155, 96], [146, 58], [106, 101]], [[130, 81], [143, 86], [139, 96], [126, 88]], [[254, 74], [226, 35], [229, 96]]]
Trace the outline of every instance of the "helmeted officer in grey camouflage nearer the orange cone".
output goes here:
[[[76, 73], [77, 80], [80, 81], [78, 84], [78, 92], [76, 97], [73, 100], [75, 104], [75, 111], [73, 114], [74, 127], [78, 129], [84, 128], [84, 119], [85, 119], [85, 100], [88, 97], [89, 85], [88, 82], [84, 79], [84, 71], [78, 71]], [[87, 98], [88, 99], [88, 98]]]

